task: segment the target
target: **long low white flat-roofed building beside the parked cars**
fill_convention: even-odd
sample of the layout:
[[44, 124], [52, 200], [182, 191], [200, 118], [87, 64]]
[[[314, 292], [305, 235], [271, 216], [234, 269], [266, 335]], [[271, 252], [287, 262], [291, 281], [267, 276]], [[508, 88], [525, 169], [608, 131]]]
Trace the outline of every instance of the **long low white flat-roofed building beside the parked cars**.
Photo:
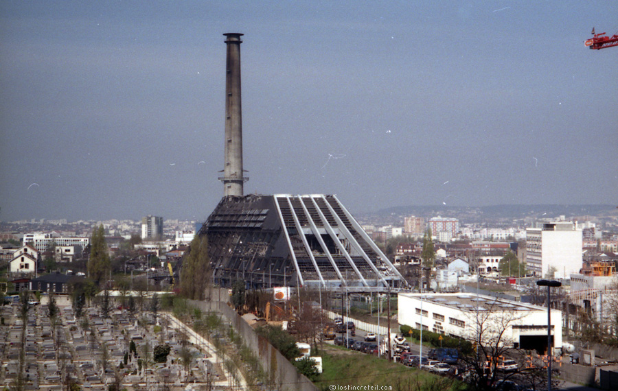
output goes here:
[[[482, 344], [547, 351], [547, 308], [537, 305], [477, 294], [400, 293], [398, 313], [400, 324], [415, 329]], [[562, 347], [558, 309], [551, 310], [551, 341], [553, 348]]]

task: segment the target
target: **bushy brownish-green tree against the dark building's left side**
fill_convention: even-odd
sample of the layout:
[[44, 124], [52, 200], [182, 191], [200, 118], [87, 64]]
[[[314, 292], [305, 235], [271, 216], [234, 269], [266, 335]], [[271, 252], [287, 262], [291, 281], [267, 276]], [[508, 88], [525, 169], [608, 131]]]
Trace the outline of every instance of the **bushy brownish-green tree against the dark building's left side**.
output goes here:
[[189, 254], [183, 259], [180, 275], [180, 294], [193, 300], [204, 300], [210, 281], [208, 238], [197, 235], [189, 246]]

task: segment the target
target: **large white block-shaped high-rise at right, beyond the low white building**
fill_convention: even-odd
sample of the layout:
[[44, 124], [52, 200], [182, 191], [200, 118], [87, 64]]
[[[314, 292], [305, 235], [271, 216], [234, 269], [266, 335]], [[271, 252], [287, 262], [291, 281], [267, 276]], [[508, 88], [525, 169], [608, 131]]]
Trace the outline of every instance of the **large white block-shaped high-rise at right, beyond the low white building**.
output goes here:
[[526, 264], [534, 275], [550, 279], [567, 279], [579, 273], [583, 265], [582, 230], [573, 222], [543, 222], [538, 228], [527, 228]]

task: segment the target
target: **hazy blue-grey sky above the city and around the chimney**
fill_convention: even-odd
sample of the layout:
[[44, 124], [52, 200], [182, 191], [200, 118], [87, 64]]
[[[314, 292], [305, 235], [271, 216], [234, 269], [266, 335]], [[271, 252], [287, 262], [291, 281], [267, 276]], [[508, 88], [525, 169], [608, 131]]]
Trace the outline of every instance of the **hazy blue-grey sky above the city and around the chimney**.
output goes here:
[[618, 202], [617, 1], [0, 1], [0, 220], [205, 220], [225, 37], [245, 193]]

